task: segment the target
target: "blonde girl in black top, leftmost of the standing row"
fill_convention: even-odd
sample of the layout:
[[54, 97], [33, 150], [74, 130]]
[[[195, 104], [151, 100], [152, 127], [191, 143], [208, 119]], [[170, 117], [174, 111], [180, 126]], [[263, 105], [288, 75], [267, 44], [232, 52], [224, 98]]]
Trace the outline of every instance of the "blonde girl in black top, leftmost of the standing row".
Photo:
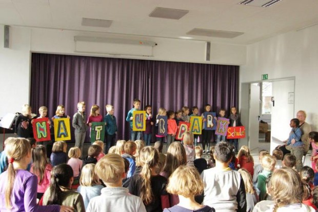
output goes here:
[[32, 135], [32, 124], [31, 124], [31, 106], [23, 105], [22, 113], [19, 114], [15, 119], [14, 133], [21, 138], [30, 138]]

